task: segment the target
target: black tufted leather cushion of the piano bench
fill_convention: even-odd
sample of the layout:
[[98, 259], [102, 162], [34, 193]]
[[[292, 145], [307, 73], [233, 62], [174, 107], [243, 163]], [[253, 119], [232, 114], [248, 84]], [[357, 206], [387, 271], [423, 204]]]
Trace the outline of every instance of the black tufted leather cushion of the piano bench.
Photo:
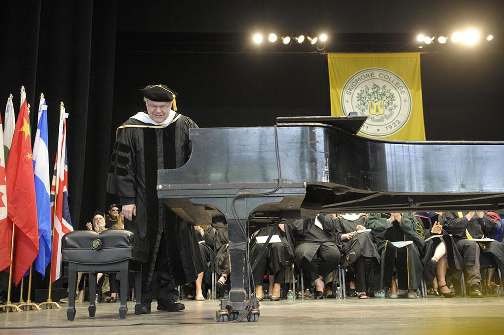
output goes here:
[[[103, 232], [76, 230], [61, 239], [64, 262], [111, 264], [125, 260], [147, 262], [149, 243], [130, 230], [109, 229]], [[94, 245], [94, 248], [93, 248]]]

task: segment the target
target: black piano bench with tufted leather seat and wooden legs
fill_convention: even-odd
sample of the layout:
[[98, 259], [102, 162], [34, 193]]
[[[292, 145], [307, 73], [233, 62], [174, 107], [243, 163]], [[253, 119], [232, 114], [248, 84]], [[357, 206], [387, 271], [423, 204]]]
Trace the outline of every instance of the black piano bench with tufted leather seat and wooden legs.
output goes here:
[[69, 267], [67, 318], [75, 318], [77, 273], [89, 273], [89, 316], [96, 312], [96, 274], [117, 272], [121, 281], [119, 317], [126, 318], [128, 277], [135, 273], [135, 314], [141, 314], [142, 263], [147, 262], [148, 242], [129, 230], [76, 230], [65, 234], [61, 242], [62, 261]]

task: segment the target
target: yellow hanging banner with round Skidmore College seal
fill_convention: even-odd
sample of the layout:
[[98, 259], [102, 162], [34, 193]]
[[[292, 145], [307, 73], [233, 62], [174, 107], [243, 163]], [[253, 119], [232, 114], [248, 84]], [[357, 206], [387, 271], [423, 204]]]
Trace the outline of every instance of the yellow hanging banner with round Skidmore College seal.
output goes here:
[[424, 141], [420, 53], [330, 53], [331, 115], [367, 116], [359, 135]]

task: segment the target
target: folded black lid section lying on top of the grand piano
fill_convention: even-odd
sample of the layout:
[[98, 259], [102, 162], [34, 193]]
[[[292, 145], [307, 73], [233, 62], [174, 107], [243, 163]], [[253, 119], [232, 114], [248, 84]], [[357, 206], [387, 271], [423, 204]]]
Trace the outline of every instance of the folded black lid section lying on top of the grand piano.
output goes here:
[[355, 135], [366, 119], [366, 116], [279, 116], [277, 117], [277, 126], [320, 126], [326, 124]]

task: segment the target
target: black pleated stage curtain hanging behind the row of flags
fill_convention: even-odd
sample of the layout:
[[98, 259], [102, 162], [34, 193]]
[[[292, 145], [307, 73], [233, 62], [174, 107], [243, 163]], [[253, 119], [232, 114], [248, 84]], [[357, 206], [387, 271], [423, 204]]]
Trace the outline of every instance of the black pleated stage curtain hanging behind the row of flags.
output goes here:
[[44, 93], [52, 168], [59, 103], [65, 103], [69, 113], [69, 206], [75, 228], [82, 228], [95, 209], [105, 206], [116, 8], [116, 1], [38, 0], [3, 3], [0, 11], [2, 117], [10, 93], [17, 114], [19, 89], [24, 85], [33, 106], [32, 129], [36, 130], [34, 115], [39, 95]]

